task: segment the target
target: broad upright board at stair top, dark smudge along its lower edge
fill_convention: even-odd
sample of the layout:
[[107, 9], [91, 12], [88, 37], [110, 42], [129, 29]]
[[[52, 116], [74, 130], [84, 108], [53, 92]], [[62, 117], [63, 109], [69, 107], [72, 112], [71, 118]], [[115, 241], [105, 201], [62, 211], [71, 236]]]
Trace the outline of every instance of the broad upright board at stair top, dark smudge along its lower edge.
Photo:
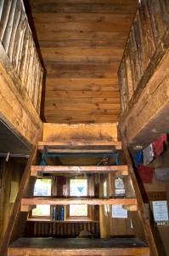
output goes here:
[[116, 124], [44, 124], [43, 141], [112, 142], [117, 141]]

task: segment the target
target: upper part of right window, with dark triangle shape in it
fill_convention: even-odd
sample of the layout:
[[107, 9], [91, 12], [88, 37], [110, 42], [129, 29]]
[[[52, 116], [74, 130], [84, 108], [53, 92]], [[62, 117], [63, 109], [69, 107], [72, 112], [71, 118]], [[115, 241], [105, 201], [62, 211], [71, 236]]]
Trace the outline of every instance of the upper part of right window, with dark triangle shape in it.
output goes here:
[[70, 179], [70, 196], [87, 196], [87, 179]]

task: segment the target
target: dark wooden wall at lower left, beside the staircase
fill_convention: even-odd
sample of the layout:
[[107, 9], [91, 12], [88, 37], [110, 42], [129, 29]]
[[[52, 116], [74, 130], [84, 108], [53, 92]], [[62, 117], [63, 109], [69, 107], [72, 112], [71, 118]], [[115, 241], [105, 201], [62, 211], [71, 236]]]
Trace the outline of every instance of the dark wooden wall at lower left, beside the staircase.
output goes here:
[[[0, 247], [8, 225], [8, 219], [13, 210], [14, 202], [11, 200], [11, 182], [20, 184], [24, 171], [25, 160], [1, 159], [0, 166]], [[17, 191], [16, 191], [17, 192]]]

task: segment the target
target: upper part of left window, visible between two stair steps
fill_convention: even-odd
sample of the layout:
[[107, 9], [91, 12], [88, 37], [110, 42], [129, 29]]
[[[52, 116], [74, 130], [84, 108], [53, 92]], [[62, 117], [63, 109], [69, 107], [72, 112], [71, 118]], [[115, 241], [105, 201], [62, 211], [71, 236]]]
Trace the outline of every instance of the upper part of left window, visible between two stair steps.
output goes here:
[[51, 179], [37, 178], [33, 195], [51, 195]]

